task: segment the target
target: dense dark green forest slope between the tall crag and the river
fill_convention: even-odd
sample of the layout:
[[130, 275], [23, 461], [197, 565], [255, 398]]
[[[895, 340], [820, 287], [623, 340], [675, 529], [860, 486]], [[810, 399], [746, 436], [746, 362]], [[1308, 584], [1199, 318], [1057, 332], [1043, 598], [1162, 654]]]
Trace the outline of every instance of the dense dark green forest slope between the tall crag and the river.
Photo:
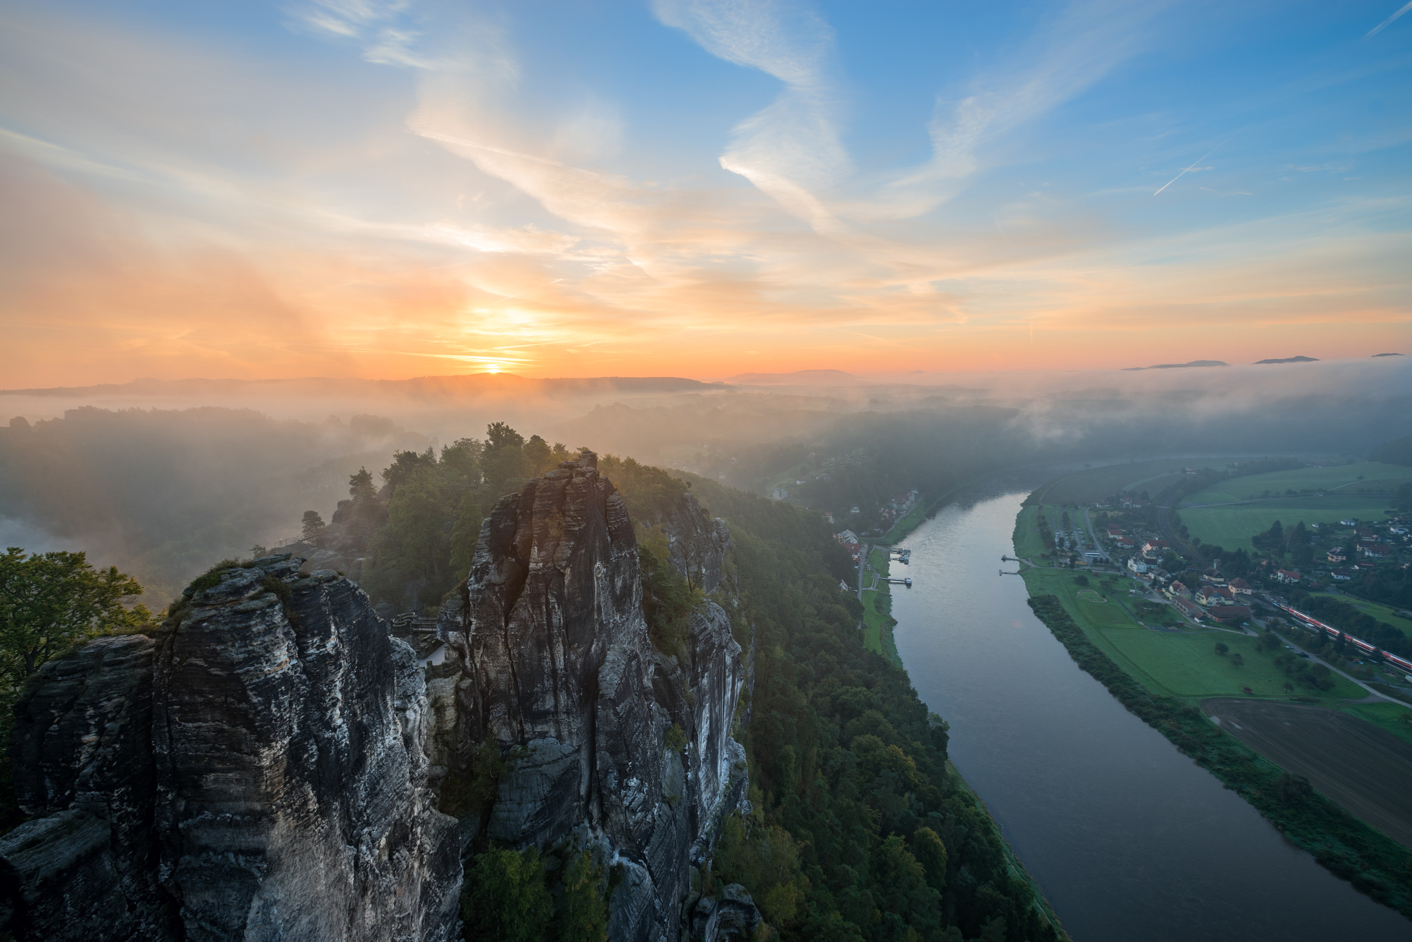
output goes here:
[[987, 925], [1011, 942], [1058, 938], [946, 764], [945, 722], [864, 650], [826, 562], [827, 524], [709, 480], [692, 490], [731, 527], [755, 630], [744, 744], [757, 791], [751, 815], [723, 826], [713, 883], [741, 883], [788, 941], [959, 942]]

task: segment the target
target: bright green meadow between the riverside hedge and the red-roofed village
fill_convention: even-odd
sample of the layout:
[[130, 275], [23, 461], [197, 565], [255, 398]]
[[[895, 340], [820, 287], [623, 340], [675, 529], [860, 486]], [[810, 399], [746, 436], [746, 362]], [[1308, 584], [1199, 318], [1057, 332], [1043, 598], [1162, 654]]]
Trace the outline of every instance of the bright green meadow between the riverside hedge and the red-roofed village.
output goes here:
[[[1091, 582], [1093, 576], [1089, 579]], [[1084, 634], [1154, 693], [1200, 700], [1207, 696], [1247, 696], [1243, 688], [1248, 686], [1257, 696], [1289, 696], [1284, 689], [1289, 678], [1275, 665], [1275, 652], [1261, 651], [1250, 636], [1214, 628], [1151, 631], [1115, 604], [1124, 599], [1117, 590], [1113, 593], [1115, 597], [1104, 604], [1080, 599], [1083, 588], [1073, 582], [1069, 571], [1028, 569], [1025, 583], [1031, 595], [1059, 596]], [[1230, 648], [1226, 657], [1216, 654], [1217, 641]], [[1237, 652], [1245, 661], [1243, 667], [1231, 664], [1231, 655]], [[1337, 675], [1334, 681], [1332, 691], [1298, 688], [1296, 695], [1317, 696], [1330, 705], [1367, 695], [1351, 681]]]

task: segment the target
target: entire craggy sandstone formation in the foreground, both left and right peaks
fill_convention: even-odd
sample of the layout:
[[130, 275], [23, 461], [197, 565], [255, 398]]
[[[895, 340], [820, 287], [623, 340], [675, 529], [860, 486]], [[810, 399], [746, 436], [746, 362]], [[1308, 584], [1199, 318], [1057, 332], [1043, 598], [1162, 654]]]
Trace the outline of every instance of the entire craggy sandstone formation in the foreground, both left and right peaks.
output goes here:
[[[664, 527], [716, 590], [724, 524], [683, 496]], [[703, 599], [681, 658], [652, 647], [633, 523], [592, 453], [486, 518], [439, 667], [301, 564], [213, 571], [155, 640], [92, 641], [30, 682], [11, 757], [32, 819], [0, 839], [0, 929], [441, 942], [490, 840], [590, 849], [616, 942], [754, 928], [744, 891], [688, 898], [746, 788], [740, 645]]]

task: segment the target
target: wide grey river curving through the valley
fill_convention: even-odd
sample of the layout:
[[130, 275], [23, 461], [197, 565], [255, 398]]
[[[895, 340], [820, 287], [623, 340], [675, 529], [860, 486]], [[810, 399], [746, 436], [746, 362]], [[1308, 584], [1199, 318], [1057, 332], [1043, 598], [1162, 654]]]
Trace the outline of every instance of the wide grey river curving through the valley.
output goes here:
[[[1288, 843], [1082, 672], [998, 576], [1028, 482], [994, 482], [901, 545], [898, 652], [950, 754], [1077, 942], [1381, 942], [1412, 922]], [[1035, 482], [1039, 483], [1039, 482]], [[1007, 564], [1005, 569], [1015, 569]]]

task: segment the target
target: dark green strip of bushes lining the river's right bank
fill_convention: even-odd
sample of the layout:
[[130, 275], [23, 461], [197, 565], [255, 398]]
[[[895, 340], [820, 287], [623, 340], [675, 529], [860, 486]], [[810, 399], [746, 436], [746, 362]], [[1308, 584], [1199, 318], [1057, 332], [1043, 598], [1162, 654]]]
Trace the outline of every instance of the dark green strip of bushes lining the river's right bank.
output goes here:
[[1336, 876], [1412, 917], [1412, 866], [1406, 852], [1319, 792], [1291, 784], [1274, 763], [1182, 700], [1147, 692], [1084, 636], [1058, 596], [1029, 599], [1029, 607], [1059, 638], [1069, 657], [1130, 712], [1166, 736], [1268, 818], [1295, 845]]

